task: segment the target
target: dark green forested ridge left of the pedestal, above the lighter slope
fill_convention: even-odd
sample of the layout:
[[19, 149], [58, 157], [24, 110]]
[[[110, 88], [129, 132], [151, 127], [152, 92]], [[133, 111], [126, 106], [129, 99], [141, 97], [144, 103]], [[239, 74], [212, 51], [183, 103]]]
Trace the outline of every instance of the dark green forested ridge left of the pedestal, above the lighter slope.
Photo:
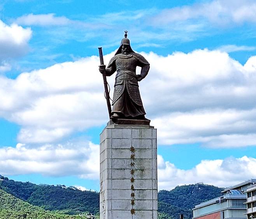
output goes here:
[[45, 210], [61, 210], [65, 214], [89, 212], [95, 215], [99, 212], [100, 196], [93, 191], [81, 191], [64, 185], [23, 183], [9, 180], [7, 177], [0, 181], [0, 189]]

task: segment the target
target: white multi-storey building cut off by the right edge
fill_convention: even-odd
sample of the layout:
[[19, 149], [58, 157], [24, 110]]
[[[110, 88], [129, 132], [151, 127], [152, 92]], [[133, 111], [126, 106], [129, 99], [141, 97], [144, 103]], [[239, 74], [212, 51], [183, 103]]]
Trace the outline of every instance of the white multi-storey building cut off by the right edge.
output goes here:
[[245, 202], [247, 205], [247, 219], [256, 218], [256, 184], [248, 186], [245, 192], [247, 193], [247, 200]]

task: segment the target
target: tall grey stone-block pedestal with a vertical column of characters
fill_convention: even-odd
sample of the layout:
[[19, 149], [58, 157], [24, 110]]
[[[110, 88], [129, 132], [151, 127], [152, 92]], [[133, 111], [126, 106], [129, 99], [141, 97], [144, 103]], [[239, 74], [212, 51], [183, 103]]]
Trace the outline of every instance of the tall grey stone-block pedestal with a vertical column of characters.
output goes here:
[[107, 125], [100, 134], [100, 219], [157, 219], [156, 129]]

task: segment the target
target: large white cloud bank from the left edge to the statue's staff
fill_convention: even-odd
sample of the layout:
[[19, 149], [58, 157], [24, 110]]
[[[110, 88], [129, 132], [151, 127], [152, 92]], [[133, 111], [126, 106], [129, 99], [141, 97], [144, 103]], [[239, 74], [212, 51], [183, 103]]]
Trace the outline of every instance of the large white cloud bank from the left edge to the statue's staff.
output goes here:
[[106, 121], [98, 58], [0, 78], [0, 115], [22, 126], [22, 143], [52, 142]]

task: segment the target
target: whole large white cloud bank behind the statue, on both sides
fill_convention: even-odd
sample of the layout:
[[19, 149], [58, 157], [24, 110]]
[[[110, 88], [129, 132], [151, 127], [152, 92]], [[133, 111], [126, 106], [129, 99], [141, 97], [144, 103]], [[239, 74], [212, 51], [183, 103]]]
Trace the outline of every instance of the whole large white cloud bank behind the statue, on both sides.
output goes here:
[[[151, 69], [140, 92], [160, 144], [256, 144], [256, 56], [242, 65], [219, 50], [142, 54]], [[105, 56], [105, 62], [112, 56]], [[0, 116], [21, 125], [18, 141], [49, 143], [104, 125], [107, 110], [98, 64], [92, 56], [14, 80], [1, 77]], [[108, 81], [112, 96], [114, 76]]]

